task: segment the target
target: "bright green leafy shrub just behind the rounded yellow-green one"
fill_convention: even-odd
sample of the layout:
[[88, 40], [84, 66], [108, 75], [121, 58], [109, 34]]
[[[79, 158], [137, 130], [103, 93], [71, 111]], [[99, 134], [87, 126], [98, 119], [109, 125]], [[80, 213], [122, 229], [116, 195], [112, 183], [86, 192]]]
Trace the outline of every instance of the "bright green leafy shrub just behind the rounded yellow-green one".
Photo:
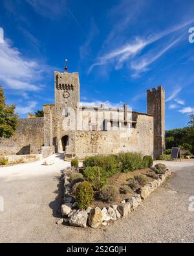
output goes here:
[[107, 183], [107, 174], [102, 167], [87, 167], [83, 170], [83, 175], [92, 183], [95, 191], [99, 191]]

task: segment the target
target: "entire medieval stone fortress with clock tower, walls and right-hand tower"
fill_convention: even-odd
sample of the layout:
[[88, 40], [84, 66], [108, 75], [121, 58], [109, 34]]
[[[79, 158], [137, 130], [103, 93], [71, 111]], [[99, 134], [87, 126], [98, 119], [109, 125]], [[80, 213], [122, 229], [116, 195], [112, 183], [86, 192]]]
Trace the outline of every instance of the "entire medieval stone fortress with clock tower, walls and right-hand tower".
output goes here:
[[155, 159], [165, 150], [165, 92], [147, 90], [147, 113], [127, 108], [81, 106], [78, 73], [54, 72], [54, 104], [44, 117], [19, 119], [16, 134], [0, 140], [0, 155], [65, 152], [65, 159], [140, 152]]

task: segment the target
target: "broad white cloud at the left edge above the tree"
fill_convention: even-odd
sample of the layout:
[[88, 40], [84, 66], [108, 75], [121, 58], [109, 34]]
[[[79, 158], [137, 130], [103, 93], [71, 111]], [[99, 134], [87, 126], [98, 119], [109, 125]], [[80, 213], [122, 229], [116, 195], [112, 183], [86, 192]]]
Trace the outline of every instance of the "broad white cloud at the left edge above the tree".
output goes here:
[[43, 70], [38, 62], [27, 60], [10, 40], [0, 43], [0, 71], [3, 86], [23, 91], [37, 91], [41, 87], [37, 81]]

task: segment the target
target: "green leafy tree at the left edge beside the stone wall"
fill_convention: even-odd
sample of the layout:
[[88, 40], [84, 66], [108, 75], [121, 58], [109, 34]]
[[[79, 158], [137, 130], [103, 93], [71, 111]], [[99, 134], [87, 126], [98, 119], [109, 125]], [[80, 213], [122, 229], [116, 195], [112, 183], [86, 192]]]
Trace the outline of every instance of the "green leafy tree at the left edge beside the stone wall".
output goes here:
[[5, 103], [5, 93], [0, 86], [0, 137], [9, 138], [14, 135], [17, 128], [18, 115], [15, 113], [15, 105]]

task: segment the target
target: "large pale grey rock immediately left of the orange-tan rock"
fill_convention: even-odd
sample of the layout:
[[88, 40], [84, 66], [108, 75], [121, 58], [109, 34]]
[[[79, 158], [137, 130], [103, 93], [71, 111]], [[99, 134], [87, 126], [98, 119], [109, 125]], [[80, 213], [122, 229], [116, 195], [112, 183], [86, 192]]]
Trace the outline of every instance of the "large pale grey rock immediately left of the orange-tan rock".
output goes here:
[[86, 227], [87, 224], [87, 211], [76, 211], [69, 218], [69, 224], [76, 227]]

